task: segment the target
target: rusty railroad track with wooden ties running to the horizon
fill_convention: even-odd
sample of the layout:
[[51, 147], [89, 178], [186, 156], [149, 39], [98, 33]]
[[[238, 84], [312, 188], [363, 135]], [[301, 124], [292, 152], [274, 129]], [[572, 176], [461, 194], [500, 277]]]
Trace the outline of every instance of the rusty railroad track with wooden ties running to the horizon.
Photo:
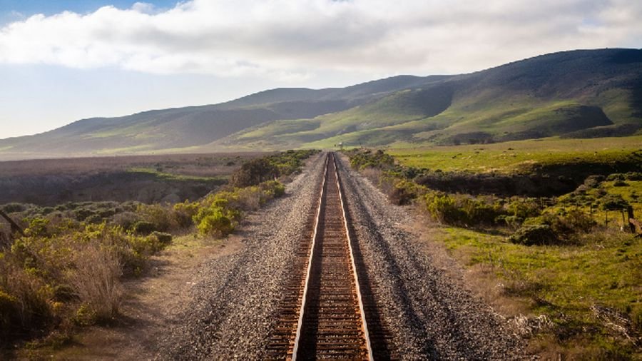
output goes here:
[[330, 153], [270, 334], [269, 359], [390, 358], [389, 332], [377, 312], [344, 199]]

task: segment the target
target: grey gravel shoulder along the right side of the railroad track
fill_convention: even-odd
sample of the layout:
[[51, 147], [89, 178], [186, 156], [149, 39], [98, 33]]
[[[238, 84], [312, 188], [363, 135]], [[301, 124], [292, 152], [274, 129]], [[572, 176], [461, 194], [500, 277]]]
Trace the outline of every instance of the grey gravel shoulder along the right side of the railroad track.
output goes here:
[[510, 360], [521, 337], [464, 284], [457, 265], [410, 231], [414, 218], [340, 159], [343, 187], [379, 312], [407, 360]]

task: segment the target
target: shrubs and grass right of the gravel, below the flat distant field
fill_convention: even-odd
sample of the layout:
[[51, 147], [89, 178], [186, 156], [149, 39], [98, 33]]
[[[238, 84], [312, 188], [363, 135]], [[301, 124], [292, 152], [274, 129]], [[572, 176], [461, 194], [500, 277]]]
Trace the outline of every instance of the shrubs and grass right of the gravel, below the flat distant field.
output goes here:
[[629, 163], [626, 169], [635, 171], [627, 173], [596, 163], [596, 173], [568, 193], [529, 197], [467, 194], [447, 183], [434, 189], [424, 181], [434, 172], [402, 165], [408, 158], [346, 153], [393, 203], [412, 203], [429, 222], [441, 224], [441, 239], [459, 260], [489, 268], [506, 297], [522, 300], [532, 316], [545, 315], [549, 322], [534, 335], [534, 351], [598, 359], [640, 355], [642, 230], [628, 218], [642, 215], [642, 163]]

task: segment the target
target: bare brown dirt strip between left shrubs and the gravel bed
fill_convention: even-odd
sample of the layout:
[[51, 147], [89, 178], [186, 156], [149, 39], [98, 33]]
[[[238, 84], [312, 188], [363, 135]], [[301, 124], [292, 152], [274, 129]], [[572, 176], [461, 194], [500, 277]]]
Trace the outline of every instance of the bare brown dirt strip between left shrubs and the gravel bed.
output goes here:
[[19, 352], [19, 360], [150, 360], [158, 340], [172, 327], [190, 301], [199, 265], [242, 247], [239, 238], [195, 239], [193, 235], [175, 242], [151, 260], [143, 278], [124, 284], [126, 298], [121, 315], [111, 325], [83, 327], [63, 347], [40, 347]]

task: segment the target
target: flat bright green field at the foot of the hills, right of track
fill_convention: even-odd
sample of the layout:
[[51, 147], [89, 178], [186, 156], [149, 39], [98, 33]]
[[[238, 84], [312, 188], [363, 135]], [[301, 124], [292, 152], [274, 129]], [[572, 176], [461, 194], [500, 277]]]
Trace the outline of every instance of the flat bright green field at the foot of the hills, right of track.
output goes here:
[[511, 141], [483, 145], [390, 149], [404, 166], [432, 171], [528, 173], [535, 166], [564, 163], [613, 163], [642, 154], [642, 136], [625, 138]]

